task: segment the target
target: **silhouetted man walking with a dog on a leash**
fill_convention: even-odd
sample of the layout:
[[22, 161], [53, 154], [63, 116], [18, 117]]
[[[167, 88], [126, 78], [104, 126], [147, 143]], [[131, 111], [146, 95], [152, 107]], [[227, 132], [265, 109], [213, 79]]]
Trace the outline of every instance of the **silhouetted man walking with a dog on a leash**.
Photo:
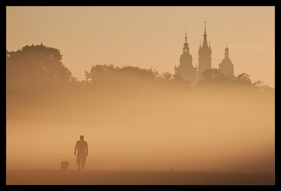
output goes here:
[[[78, 150], [77, 150], [78, 149]], [[86, 141], [84, 141], [84, 136], [80, 136], [80, 140], [76, 142], [75, 149], [74, 149], [74, 155], [76, 156], [76, 150], [77, 150], [77, 165], [78, 165], [78, 171], [80, 171], [80, 161], [81, 163], [81, 170], [83, 172], [83, 169], [85, 167], [86, 157], [88, 156], [88, 144]]]

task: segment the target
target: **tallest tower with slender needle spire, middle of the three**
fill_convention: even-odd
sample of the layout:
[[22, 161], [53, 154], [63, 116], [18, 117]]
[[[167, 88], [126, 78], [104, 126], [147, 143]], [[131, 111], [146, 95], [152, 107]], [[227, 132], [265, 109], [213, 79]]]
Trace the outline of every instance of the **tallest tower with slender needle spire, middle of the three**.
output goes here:
[[204, 32], [204, 40], [203, 45], [199, 47], [198, 50], [198, 76], [197, 79], [202, 79], [202, 72], [204, 72], [207, 69], [211, 69], [211, 54], [212, 50], [209, 44], [207, 44], [207, 35], [206, 35], [206, 21], [205, 21], [205, 32]]

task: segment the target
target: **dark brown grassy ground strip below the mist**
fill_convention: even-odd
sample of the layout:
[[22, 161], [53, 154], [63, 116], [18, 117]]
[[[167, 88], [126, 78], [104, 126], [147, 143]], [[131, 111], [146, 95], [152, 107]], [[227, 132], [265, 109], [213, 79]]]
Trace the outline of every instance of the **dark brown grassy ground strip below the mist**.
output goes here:
[[167, 171], [7, 170], [6, 184], [275, 184], [275, 174]]

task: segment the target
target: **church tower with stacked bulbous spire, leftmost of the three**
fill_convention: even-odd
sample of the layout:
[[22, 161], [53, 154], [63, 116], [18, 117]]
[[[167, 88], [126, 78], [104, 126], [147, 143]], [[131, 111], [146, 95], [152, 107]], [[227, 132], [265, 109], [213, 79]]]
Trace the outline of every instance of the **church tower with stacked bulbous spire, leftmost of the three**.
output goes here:
[[185, 43], [183, 47], [183, 53], [180, 57], [180, 65], [174, 67], [175, 75], [180, 74], [181, 77], [185, 80], [190, 80], [196, 82], [197, 79], [197, 67], [192, 65], [192, 56], [189, 53], [189, 47], [187, 43], [187, 36], [185, 32]]

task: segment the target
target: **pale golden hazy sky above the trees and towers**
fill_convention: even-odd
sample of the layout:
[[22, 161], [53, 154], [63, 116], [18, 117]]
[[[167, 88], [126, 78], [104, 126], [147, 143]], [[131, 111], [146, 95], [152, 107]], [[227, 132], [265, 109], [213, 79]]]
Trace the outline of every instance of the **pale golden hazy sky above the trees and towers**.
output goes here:
[[6, 7], [6, 49], [57, 48], [79, 81], [96, 64], [174, 74], [185, 29], [198, 64], [205, 19], [212, 68], [219, 67], [227, 43], [235, 75], [248, 73], [275, 87], [275, 7]]

